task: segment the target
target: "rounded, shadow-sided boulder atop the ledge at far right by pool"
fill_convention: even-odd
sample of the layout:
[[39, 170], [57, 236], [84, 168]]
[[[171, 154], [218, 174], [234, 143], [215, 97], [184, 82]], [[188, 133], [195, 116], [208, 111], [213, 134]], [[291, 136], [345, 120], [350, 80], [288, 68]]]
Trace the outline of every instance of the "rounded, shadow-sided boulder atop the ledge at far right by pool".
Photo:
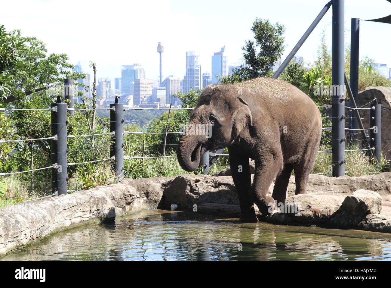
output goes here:
[[382, 201], [378, 193], [360, 189], [346, 196], [340, 209], [353, 216], [365, 217], [368, 214], [380, 214]]

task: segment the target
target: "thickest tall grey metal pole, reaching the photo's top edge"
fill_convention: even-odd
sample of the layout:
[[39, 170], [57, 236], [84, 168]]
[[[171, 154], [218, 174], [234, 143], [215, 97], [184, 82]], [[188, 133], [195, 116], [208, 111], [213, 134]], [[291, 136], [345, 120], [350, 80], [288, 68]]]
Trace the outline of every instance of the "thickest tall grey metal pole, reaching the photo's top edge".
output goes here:
[[332, 149], [333, 176], [345, 175], [344, 0], [333, 0], [332, 17]]

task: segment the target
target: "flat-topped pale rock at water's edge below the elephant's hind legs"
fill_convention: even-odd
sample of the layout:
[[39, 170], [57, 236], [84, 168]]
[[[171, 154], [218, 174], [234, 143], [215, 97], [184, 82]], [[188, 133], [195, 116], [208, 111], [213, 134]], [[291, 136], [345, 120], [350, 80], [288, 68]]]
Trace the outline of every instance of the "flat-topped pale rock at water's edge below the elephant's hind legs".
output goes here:
[[339, 209], [343, 201], [344, 198], [341, 196], [326, 194], [290, 196], [285, 200], [286, 206], [282, 211], [265, 217], [265, 220], [281, 224], [324, 224]]

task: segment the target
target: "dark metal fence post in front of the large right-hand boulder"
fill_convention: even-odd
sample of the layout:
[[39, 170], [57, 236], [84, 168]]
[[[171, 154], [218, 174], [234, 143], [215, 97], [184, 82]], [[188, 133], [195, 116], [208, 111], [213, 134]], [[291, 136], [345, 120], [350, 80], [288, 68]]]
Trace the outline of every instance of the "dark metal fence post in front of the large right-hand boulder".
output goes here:
[[382, 104], [371, 104], [369, 110], [369, 125], [371, 126], [371, 148], [375, 147], [375, 159], [380, 162], [382, 156]]

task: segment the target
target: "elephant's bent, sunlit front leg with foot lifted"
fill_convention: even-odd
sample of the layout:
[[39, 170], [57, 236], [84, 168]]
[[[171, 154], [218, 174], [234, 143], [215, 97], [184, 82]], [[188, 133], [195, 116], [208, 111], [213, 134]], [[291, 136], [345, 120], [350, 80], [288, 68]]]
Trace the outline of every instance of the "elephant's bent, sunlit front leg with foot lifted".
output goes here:
[[277, 153], [264, 154], [260, 158], [255, 159], [255, 175], [251, 187], [251, 199], [258, 206], [262, 216], [269, 215], [271, 210], [274, 210], [274, 199], [267, 195], [267, 192], [273, 179], [281, 172], [282, 167], [282, 155]]

